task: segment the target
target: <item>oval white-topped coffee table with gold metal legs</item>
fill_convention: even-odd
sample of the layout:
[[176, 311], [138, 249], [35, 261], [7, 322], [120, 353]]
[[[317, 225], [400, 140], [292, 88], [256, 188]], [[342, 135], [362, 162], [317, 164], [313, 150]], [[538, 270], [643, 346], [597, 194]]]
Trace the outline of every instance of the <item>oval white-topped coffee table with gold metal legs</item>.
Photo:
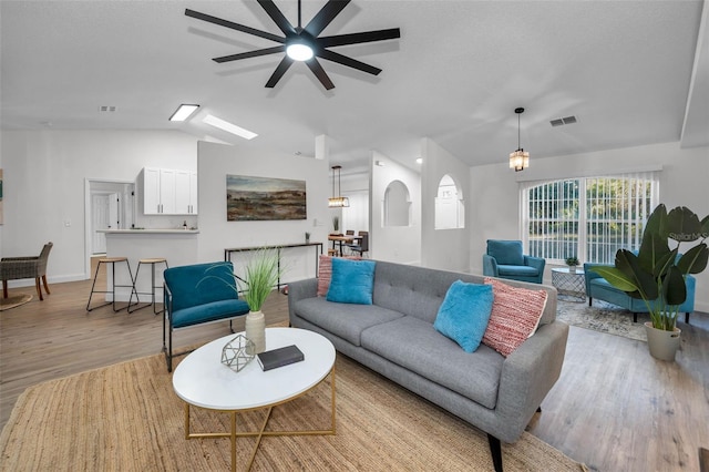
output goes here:
[[[175, 369], [173, 388], [185, 401], [185, 438], [230, 438], [232, 470], [236, 470], [236, 439], [257, 437], [247, 470], [251, 468], [265, 435], [335, 434], [335, 358], [332, 343], [314, 331], [297, 328], [267, 328], [266, 350], [296, 345], [304, 353], [300, 362], [263, 371], [254, 359], [239, 372], [222, 363], [222, 349], [237, 335], [216, 339], [189, 353]], [[329, 374], [331, 384], [331, 424], [327, 430], [264, 431], [271, 409], [311, 390]], [[191, 432], [189, 407], [232, 414], [229, 432]], [[268, 409], [260, 431], [236, 431], [236, 414]]]

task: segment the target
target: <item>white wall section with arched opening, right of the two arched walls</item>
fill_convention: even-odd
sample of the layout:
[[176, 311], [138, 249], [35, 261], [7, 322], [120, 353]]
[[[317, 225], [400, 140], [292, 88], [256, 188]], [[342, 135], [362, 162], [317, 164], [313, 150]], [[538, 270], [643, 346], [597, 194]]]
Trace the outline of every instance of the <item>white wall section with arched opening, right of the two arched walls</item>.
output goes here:
[[[421, 264], [425, 267], [467, 271], [470, 269], [471, 208], [477, 202], [471, 195], [470, 167], [432, 140], [421, 140]], [[444, 175], [459, 186], [465, 204], [465, 227], [434, 229], [435, 197]], [[493, 181], [494, 182], [494, 181]]]

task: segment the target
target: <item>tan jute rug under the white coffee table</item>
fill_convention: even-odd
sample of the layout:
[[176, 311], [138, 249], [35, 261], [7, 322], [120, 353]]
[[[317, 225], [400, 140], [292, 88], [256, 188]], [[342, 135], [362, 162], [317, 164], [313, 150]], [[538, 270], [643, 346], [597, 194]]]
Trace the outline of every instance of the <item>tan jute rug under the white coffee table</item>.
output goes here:
[[[337, 434], [264, 438], [254, 471], [492, 471], [486, 435], [338, 355]], [[237, 374], [237, 373], [234, 373]], [[274, 409], [268, 429], [329, 425], [330, 384]], [[239, 430], [264, 417], [237, 417]], [[192, 411], [193, 431], [228, 431], [229, 415]], [[254, 444], [237, 440], [237, 470]], [[228, 439], [185, 440], [184, 403], [162, 355], [48, 381], [18, 399], [0, 434], [2, 471], [227, 471]], [[503, 444], [505, 471], [582, 464], [524, 433]]]

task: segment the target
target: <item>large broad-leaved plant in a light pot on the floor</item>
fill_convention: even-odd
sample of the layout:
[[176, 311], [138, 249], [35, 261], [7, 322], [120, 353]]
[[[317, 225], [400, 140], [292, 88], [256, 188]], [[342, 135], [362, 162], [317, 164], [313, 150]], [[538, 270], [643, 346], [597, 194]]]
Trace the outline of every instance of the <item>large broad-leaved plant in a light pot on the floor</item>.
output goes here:
[[[662, 360], [674, 360], [679, 347], [677, 328], [679, 305], [687, 298], [685, 277], [699, 274], [707, 267], [709, 249], [703, 242], [709, 236], [709, 216], [702, 220], [687, 207], [676, 207], [667, 213], [664, 204], [655, 208], [645, 225], [643, 242], [637, 255], [618, 249], [615, 267], [595, 267], [614, 287], [630, 297], [645, 301], [650, 314], [646, 322], [650, 355]], [[670, 247], [670, 239], [676, 243]], [[699, 244], [685, 254], [679, 253], [682, 243]]]

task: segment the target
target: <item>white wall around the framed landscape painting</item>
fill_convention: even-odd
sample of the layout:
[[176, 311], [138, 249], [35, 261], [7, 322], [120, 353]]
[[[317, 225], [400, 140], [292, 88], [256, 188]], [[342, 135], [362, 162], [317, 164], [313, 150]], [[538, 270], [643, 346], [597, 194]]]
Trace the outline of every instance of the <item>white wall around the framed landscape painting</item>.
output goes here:
[[[328, 196], [329, 164], [326, 160], [253, 151], [248, 146], [228, 146], [199, 142], [197, 160], [199, 189], [199, 260], [224, 260], [229, 247], [261, 247], [305, 243], [323, 243], [330, 229]], [[248, 175], [306, 181], [307, 219], [271, 222], [227, 222], [226, 176]], [[239, 255], [234, 254], [235, 271], [239, 274]], [[315, 276], [315, 248], [284, 250], [288, 270], [282, 280], [300, 280]]]

